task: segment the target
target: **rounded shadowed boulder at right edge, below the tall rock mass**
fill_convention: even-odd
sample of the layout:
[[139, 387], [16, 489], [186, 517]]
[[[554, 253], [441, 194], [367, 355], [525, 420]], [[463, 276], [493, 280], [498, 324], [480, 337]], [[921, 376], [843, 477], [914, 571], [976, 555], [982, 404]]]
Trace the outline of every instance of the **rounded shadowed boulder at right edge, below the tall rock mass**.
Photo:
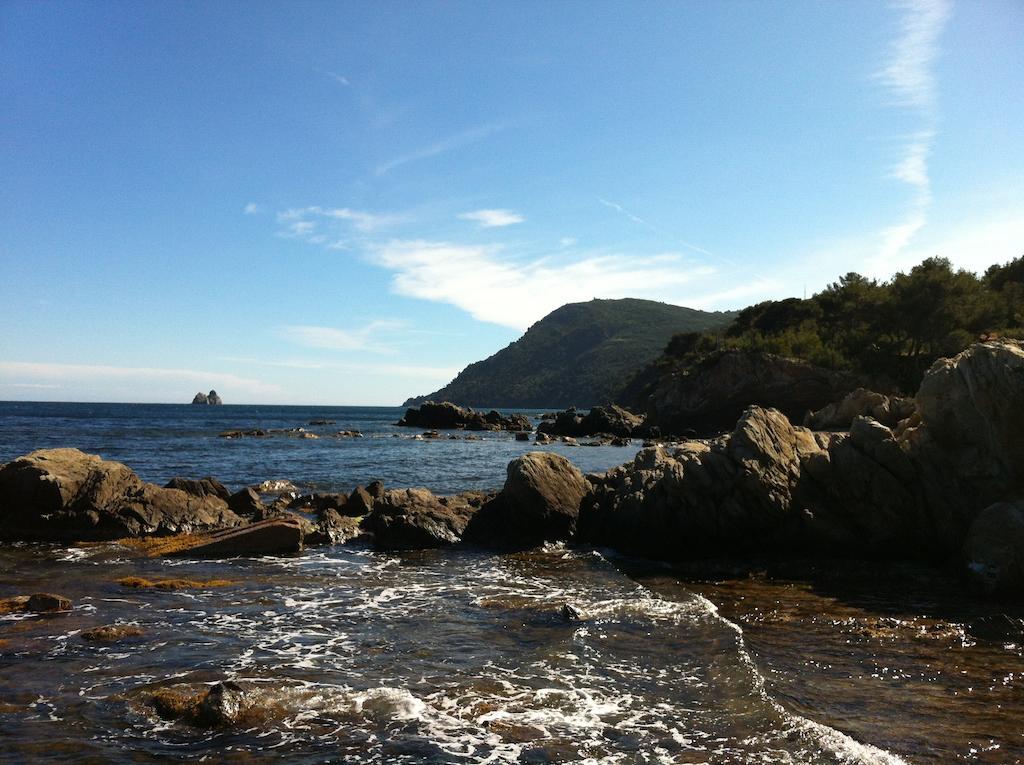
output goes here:
[[990, 594], [1024, 594], [1024, 501], [982, 510], [964, 543], [968, 576]]

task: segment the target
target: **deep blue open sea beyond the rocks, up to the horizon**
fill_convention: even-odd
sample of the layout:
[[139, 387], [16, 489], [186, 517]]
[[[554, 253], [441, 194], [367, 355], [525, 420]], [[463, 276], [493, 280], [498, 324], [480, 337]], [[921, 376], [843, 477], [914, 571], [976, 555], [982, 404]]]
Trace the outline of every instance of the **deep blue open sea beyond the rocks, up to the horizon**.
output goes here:
[[[540, 422], [539, 411], [519, 411]], [[508, 432], [443, 431], [459, 440], [416, 440], [397, 427], [397, 407], [193, 407], [136, 403], [0, 402], [0, 463], [35, 449], [75, 447], [123, 462], [144, 480], [213, 475], [231, 490], [288, 478], [304, 490], [348, 492], [380, 479], [389, 487], [426, 486], [437, 494], [500, 488], [505, 467], [530, 450], [559, 452], [585, 472], [633, 458], [633, 447], [538, 447]], [[310, 425], [317, 420], [332, 425]], [[221, 438], [228, 430], [291, 430], [268, 437]], [[338, 437], [357, 430], [361, 438]], [[480, 440], [463, 440], [467, 435]], [[582, 439], [587, 440], [587, 439]]]

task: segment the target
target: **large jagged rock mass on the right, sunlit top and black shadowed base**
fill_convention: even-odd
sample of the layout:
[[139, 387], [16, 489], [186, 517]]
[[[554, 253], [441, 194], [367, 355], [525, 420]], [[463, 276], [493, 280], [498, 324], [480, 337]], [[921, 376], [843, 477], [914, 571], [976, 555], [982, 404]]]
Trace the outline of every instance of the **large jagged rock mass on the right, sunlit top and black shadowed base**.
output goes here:
[[642, 450], [592, 476], [578, 538], [668, 559], [963, 556], [986, 589], [1024, 594], [1024, 349], [938, 362], [916, 402], [895, 431], [858, 416], [815, 433], [751, 407], [727, 435]]

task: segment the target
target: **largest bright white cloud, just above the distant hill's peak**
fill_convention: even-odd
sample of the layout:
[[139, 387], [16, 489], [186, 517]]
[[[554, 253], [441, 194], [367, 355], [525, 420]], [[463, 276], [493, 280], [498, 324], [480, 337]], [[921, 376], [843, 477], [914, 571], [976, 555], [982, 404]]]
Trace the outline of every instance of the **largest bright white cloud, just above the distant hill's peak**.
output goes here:
[[515, 329], [529, 327], [560, 305], [592, 298], [677, 302], [681, 287], [714, 273], [678, 253], [521, 262], [503, 258], [497, 246], [422, 240], [380, 245], [373, 259], [394, 271], [391, 286], [399, 295], [449, 303], [479, 321]]

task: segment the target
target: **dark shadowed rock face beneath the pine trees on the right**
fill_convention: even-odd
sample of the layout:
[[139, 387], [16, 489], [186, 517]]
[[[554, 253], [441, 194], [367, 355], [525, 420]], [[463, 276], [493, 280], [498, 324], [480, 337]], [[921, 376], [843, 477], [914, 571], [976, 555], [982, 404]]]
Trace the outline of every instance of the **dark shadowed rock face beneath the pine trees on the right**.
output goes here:
[[752, 405], [802, 422], [857, 386], [850, 375], [795, 358], [721, 350], [664, 374], [647, 399], [646, 425], [664, 435], [712, 435], [731, 428]]

